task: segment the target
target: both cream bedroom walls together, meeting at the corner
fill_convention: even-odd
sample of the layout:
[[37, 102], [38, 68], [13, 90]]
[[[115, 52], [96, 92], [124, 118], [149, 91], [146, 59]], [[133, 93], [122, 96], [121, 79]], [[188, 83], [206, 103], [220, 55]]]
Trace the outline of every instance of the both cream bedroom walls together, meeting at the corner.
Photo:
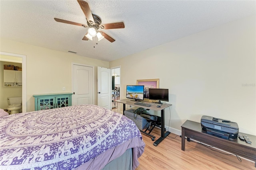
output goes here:
[[256, 135], [255, 25], [255, 16], [243, 18], [110, 63], [5, 39], [0, 50], [26, 55], [27, 111], [34, 110], [33, 94], [63, 92], [63, 86], [72, 92], [72, 62], [120, 66], [121, 98], [126, 85], [140, 79], [159, 78], [160, 88], [169, 89], [173, 106], [165, 110], [165, 124], [171, 132], [208, 115], [237, 122], [240, 132]]

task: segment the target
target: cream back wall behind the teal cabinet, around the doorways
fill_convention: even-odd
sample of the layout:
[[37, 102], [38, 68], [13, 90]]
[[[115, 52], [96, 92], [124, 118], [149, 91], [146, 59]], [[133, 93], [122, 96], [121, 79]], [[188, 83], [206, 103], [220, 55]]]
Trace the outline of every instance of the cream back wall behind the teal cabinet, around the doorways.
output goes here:
[[[108, 62], [3, 38], [1, 38], [0, 50], [26, 55], [27, 112], [34, 111], [33, 94], [72, 92], [72, 62], [95, 66], [94, 103], [97, 104], [97, 66], [109, 68]], [[62, 87], [66, 87], [66, 90], [63, 91]]]

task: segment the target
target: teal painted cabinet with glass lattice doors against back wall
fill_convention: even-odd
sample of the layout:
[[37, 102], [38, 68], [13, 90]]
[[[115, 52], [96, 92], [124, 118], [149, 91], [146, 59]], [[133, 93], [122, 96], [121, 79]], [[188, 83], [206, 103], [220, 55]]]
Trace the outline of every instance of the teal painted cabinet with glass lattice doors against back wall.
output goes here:
[[72, 105], [73, 93], [34, 94], [35, 110], [62, 108]]

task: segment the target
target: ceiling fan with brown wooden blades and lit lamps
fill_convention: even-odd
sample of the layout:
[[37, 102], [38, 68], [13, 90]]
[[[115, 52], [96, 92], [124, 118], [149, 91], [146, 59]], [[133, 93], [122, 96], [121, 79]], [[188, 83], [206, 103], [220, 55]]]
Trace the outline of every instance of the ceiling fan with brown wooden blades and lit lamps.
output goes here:
[[102, 30], [124, 28], [124, 22], [101, 24], [101, 18], [95, 14], [92, 14], [88, 2], [84, 0], [77, 0], [77, 2], [80, 5], [82, 11], [84, 12], [87, 24], [80, 24], [77, 22], [62, 20], [59, 18], [54, 18], [54, 20], [57, 22], [63, 22], [66, 24], [72, 24], [88, 28], [88, 32], [85, 34], [82, 40], [92, 40], [93, 37], [97, 36], [98, 41], [106, 38], [108, 41], [114, 42], [115, 39], [103, 32]]

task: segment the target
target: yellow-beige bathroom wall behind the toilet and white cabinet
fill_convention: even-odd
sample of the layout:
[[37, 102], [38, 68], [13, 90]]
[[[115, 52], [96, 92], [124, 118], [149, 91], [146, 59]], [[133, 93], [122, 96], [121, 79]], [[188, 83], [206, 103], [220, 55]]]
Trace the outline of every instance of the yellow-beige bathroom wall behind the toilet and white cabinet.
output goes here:
[[4, 87], [4, 64], [22, 68], [21, 63], [0, 61], [0, 108], [7, 109], [8, 97], [22, 97], [22, 87]]

